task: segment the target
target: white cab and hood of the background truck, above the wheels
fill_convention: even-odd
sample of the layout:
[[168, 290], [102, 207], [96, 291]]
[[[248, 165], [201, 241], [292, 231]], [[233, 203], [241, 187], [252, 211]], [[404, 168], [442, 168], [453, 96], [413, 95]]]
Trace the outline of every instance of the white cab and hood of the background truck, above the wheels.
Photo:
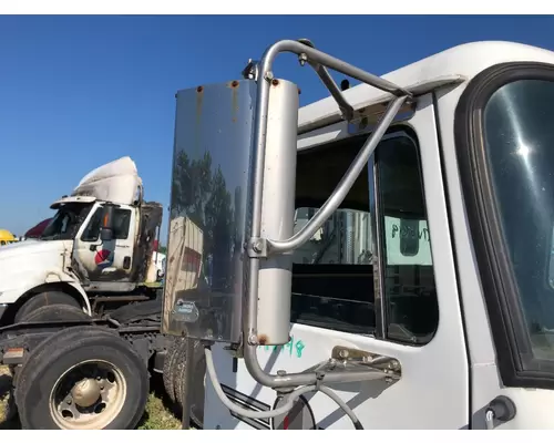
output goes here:
[[153, 245], [163, 208], [143, 200], [130, 157], [92, 171], [51, 208], [57, 213], [40, 239], [0, 249], [2, 324], [48, 303], [93, 313], [104, 301], [155, 297]]

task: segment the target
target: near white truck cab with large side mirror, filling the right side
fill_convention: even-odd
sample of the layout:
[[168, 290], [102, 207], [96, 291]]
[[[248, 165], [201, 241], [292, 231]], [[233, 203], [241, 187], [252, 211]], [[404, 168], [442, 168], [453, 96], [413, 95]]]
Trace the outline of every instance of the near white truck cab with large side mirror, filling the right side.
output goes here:
[[[330, 96], [299, 107], [283, 52]], [[379, 78], [283, 40], [243, 76], [176, 94], [171, 217], [211, 278], [165, 288], [164, 332], [205, 347], [204, 429], [554, 427], [554, 53]]]

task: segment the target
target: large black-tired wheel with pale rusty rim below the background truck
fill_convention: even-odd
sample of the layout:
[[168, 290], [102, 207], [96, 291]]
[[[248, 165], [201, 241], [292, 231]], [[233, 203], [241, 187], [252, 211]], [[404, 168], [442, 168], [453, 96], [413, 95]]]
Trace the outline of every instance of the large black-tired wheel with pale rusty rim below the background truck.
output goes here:
[[42, 341], [23, 363], [16, 402], [23, 429], [134, 429], [146, 405], [148, 372], [117, 334], [74, 327]]

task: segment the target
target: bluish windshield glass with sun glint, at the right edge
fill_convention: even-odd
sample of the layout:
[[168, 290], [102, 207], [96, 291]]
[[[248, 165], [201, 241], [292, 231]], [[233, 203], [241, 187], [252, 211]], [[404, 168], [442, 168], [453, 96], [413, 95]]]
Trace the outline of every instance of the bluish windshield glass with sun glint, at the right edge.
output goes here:
[[[534, 358], [554, 360], [554, 82], [519, 80], [484, 110], [486, 162], [514, 308]], [[517, 306], [519, 305], [519, 306]], [[513, 312], [511, 312], [513, 315]]]

